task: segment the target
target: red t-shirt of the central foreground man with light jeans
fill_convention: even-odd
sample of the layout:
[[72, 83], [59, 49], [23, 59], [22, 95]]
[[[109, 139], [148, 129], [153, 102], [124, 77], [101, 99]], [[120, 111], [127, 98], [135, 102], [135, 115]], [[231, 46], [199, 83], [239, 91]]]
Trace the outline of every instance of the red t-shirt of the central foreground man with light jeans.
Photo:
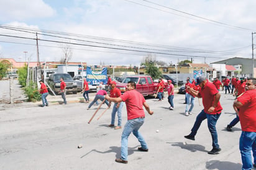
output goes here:
[[138, 117], [145, 117], [145, 112], [143, 109], [145, 99], [140, 92], [133, 89], [124, 92], [124, 94], [120, 97], [122, 101], [126, 102], [128, 120], [136, 119]]

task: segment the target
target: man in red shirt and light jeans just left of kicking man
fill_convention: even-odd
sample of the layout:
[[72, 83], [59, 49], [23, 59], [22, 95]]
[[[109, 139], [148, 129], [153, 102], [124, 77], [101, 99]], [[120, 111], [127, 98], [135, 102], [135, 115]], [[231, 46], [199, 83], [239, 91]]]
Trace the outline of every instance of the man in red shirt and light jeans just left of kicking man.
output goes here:
[[[191, 89], [194, 88], [194, 85], [190, 83], [190, 80], [187, 79], [186, 80], [186, 84], [185, 84], [185, 88], [186, 88], [186, 109], [185, 109], [185, 115], [188, 116], [188, 115], [191, 115], [191, 112], [194, 108], [194, 96], [193, 94], [191, 94], [189, 91], [188, 91], [188, 87], [190, 87]], [[190, 109], [188, 109], [188, 107], [190, 107]]]

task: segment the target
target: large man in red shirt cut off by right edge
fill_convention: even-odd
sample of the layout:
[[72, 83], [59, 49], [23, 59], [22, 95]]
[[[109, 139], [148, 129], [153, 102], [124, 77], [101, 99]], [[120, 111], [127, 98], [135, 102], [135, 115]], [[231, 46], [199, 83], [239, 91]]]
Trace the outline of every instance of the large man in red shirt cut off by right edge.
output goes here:
[[[234, 109], [239, 115], [242, 133], [239, 149], [242, 158], [242, 169], [256, 168], [256, 79], [249, 79], [245, 85], [246, 91], [234, 101]], [[239, 110], [238, 110], [239, 109]], [[252, 153], [254, 164], [252, 164]]]

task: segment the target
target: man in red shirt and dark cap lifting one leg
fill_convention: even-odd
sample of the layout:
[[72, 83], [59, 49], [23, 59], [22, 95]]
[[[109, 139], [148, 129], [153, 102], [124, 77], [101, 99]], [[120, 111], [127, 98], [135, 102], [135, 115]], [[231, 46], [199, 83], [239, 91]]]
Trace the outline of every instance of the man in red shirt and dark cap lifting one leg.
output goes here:
[[217, 91], [216, 87], [213, 83], [210, 83], [208, 79], [199, 76], [196, 78], [196, 85], [199, 85], [201, 89], [195, 91], [191, 87], [188, 87], [188, 92], [193, 94], [196, 97], [202, 97], [204, 109], [198, 114], [196, 117], [196, 122], [194, 122], [194, 126], [191, 129], [190, 135], [184, 136], [189, 140], [194, 140], [194, 136], [198, 132], [198, 129], [203, 122], [203, 120], [207, 119], [208, 129], [211, 133], [211, 137], [213, 139], [213, 150], [209, 151], [208, 154], [217, 154], [221, 151], [219, 148], [218, 140], [217, 140], [217, 130], [216, 123], [221, 115], [221, 104], [219, 99], [221, 98], [221, 94]]

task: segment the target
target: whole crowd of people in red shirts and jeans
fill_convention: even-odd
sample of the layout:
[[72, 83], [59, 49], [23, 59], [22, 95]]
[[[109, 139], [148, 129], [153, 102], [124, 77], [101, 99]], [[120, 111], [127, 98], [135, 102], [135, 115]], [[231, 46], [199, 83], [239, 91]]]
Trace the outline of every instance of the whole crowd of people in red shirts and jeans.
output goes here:
[[[65, 82], [62, 78], [60, 78], [60, 82], [60, 94], [62, 94], [63, 104], [66, 104]], [[40, 81], [40, 84], [39, 92], [42, 94], [42, 106], [45, 107], [48, 106], [46, 99], [48, 91], [43, 81]], [[85, 102], [89, 102], [89, 89], [86, 79], [84, 79], [83, 85], [83, 97], [85, 97]], [[136, 84], [134, 82], [130, 81], [127, 83], [127, 91], [124, 92], [124, 94], [121, 94], [120, 89], [116, 87], [116, 82], [112, 81], [110, 77], [107, 86], [111, 89], [110, 94], [107, 94], [107, 91], [103, 89], [98, 89], [88, 109], [90, 109], [93, 104], [97, 104], [98, 99], [104, 102], [108, 109], [111, 107], [111, 103], [114, 102], [111, 123], [108, 127], [114, 127], [114, 129], [117, 130], [122, 128], [122, 107], [124, 102], [126, 103], [127, 122], [121, 136], [121, 158], [117, 158], [115, 161], [117, 163], [127, 164], [128, 138], [130, 133], [133, 133], [140, 142], [141, 147], [138, 148], [139, 151], [149, 151], [147, 143], [139, 132], [139, 128], [143, 125], [145, 119], [144, 107], [150, 115], [153, 114], [153, 111], [150, 110], [142, 94], [136, 91]], [[204, 109], [197, 115], [190, 134], [184, 137], [188, 140], [195, 140], [196, 133], [201, 123], [203, 120], [207, 120], [213, 146], [213, 149], [209, 151], [208, 154], [218, 154], [221, 151], [216, 130], [216, 123], [222, 112], [220, 103], [221, 94], [219, 92], [220, 87], [222, 87], [222, 90], [225, 88], [225, 94], [233, 94], [233, 96], [235, 96], [233, 107], [236, 117], [227, 125], [226, 129], [227, 131], [232, 131], [232, 127], [240, 121], [242, 133], [240, 135], [239, 150], [242, 158], [242, 169], [251, 169], [253, 166], [256, 168], [256, 79], [254, 78], [239, 79], [233, 76], [232, 79], [225, 78], [222, 83], [218, 78], [214, 79], [213, 83], [203, 76], [196, 78], [196, 81], [193, 79], [192, 82], [190, 82], [190, 78], [188, 78], [185, 84], [185, 115], [188, 116], [191, 114], [195, 97], [203, 99]], [[157, 89], [158, 100], [162, 101], [165, 89], [162, 79], [159, 79]], [[168, 93], [169, 108], [170, 110], [174, 110], [173, 98], [175, 95], [171, 80], [168, 81], [168, 86], [165, 90]], [[115, 127], [116, 113], [118, 120], [117, 126]], [[254, 157], [253, 161], [252, 153]]]

